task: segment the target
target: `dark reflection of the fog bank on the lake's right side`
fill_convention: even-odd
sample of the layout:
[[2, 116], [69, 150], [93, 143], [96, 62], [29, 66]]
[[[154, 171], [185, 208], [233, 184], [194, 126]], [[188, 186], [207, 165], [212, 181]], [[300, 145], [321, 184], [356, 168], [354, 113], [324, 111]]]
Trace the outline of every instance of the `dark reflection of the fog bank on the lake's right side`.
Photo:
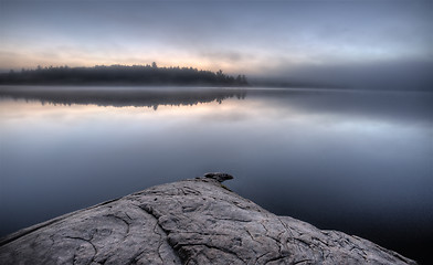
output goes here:
[[[311, 116], [336, 116], [342, 119], [380, 123], [424, 123], [432, 120], [432, 93], [374, 92], [338, 89], [256, 89], [247, 92], [277, 109], [275, 115], [296, 113]], [[431, 125], [431, 124], [430, 124]]]

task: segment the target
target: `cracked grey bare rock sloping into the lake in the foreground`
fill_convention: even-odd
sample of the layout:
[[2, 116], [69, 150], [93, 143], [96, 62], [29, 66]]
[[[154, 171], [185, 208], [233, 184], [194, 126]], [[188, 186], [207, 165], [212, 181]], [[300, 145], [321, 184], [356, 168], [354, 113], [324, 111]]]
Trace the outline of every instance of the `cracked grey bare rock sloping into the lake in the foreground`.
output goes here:
[[21, 230], [0, 241], [0, 264], [415, 264], [277, 216], [216, 179], [154, 187]]

